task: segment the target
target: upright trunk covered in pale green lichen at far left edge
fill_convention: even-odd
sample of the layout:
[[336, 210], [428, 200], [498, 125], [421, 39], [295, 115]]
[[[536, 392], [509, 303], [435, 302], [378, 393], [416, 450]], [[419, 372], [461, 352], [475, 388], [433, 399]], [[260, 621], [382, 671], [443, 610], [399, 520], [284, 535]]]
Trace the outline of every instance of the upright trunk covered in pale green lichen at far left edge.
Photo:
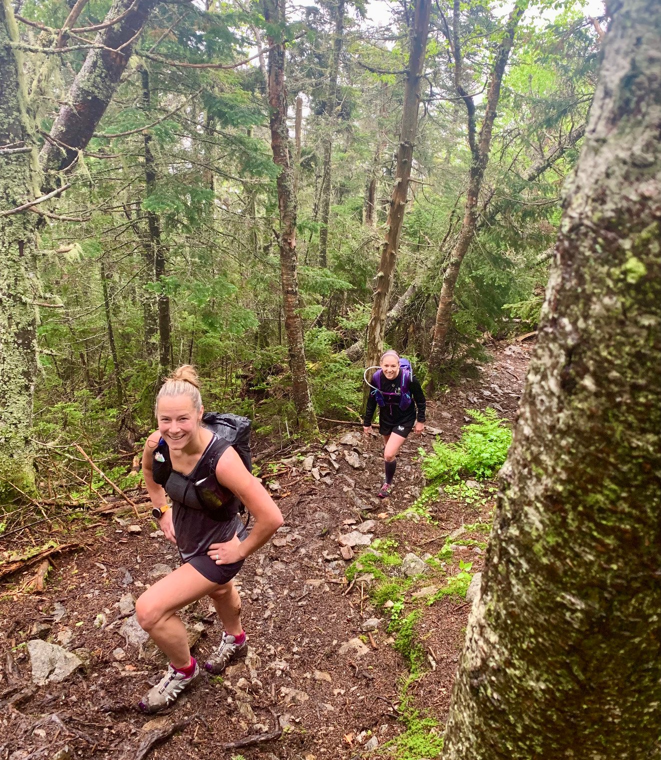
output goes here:
[[[40, 185], [27, 116], [23, 62], [11, 49], [18, 30], [9, 0], [0, 2], [0, 211], [36, 198]], [[36, 181], [35, 181], [36, 180]], [[35, 186], [36, 185], [36, 186]], [[31, 211], [0, 217], [0, 499], [33, 489], [30, 447], [36, 374], [36, 219]]]

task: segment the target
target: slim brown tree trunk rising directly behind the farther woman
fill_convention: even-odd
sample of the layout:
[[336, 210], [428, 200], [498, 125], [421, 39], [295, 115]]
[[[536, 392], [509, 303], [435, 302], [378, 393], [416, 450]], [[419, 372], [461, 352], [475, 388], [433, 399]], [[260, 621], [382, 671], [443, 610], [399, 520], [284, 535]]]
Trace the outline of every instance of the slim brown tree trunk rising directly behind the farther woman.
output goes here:
[[409, 68], [406, 71], [406, 86], [404, 88], [400, 147], [397, 150], [397, 174], [390, 210], [388, 211], [386, 239], [381, 245], [381, 261], [376, 275], [376, 291], [367, 328], [368, 366], [378, 364], [383, 350], [384, 326], [393, 287], [404, 210], [409, 193], [413, 147], [418, 131], [420, 76], [425, 65], [430, 8], [431, 0], [418, 0], [416, 3], [416, 15], [411, 33]]

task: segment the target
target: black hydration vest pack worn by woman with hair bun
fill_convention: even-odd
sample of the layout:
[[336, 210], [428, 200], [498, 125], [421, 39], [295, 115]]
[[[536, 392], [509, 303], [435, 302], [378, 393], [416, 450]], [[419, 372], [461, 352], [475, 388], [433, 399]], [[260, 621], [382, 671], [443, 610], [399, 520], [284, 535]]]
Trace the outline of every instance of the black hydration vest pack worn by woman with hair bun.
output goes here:
[[166, 490], [173, 502], [204, 511], [218, 522], [232, 520], [245, 511], [236, 494], [221, 486], [216, 478], [216, 465], [221, 454], [232, 446], [248, 472], [252, 472], [250, 453], [250, 420], [236, 414], [205, 412], [202, 424], [213, 432], [213, 439], [189, 475], [172, 469], [169, 447], [160, 439], [153, 451], [153, 480]]

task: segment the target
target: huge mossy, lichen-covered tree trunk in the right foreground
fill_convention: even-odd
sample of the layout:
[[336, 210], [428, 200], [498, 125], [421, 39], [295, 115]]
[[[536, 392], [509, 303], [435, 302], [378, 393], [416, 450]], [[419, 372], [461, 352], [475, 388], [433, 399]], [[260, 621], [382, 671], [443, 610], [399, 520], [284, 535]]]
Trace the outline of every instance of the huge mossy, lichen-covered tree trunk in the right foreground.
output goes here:
[[661, 757], [661, 5], [609, 9], [445, 760]]

